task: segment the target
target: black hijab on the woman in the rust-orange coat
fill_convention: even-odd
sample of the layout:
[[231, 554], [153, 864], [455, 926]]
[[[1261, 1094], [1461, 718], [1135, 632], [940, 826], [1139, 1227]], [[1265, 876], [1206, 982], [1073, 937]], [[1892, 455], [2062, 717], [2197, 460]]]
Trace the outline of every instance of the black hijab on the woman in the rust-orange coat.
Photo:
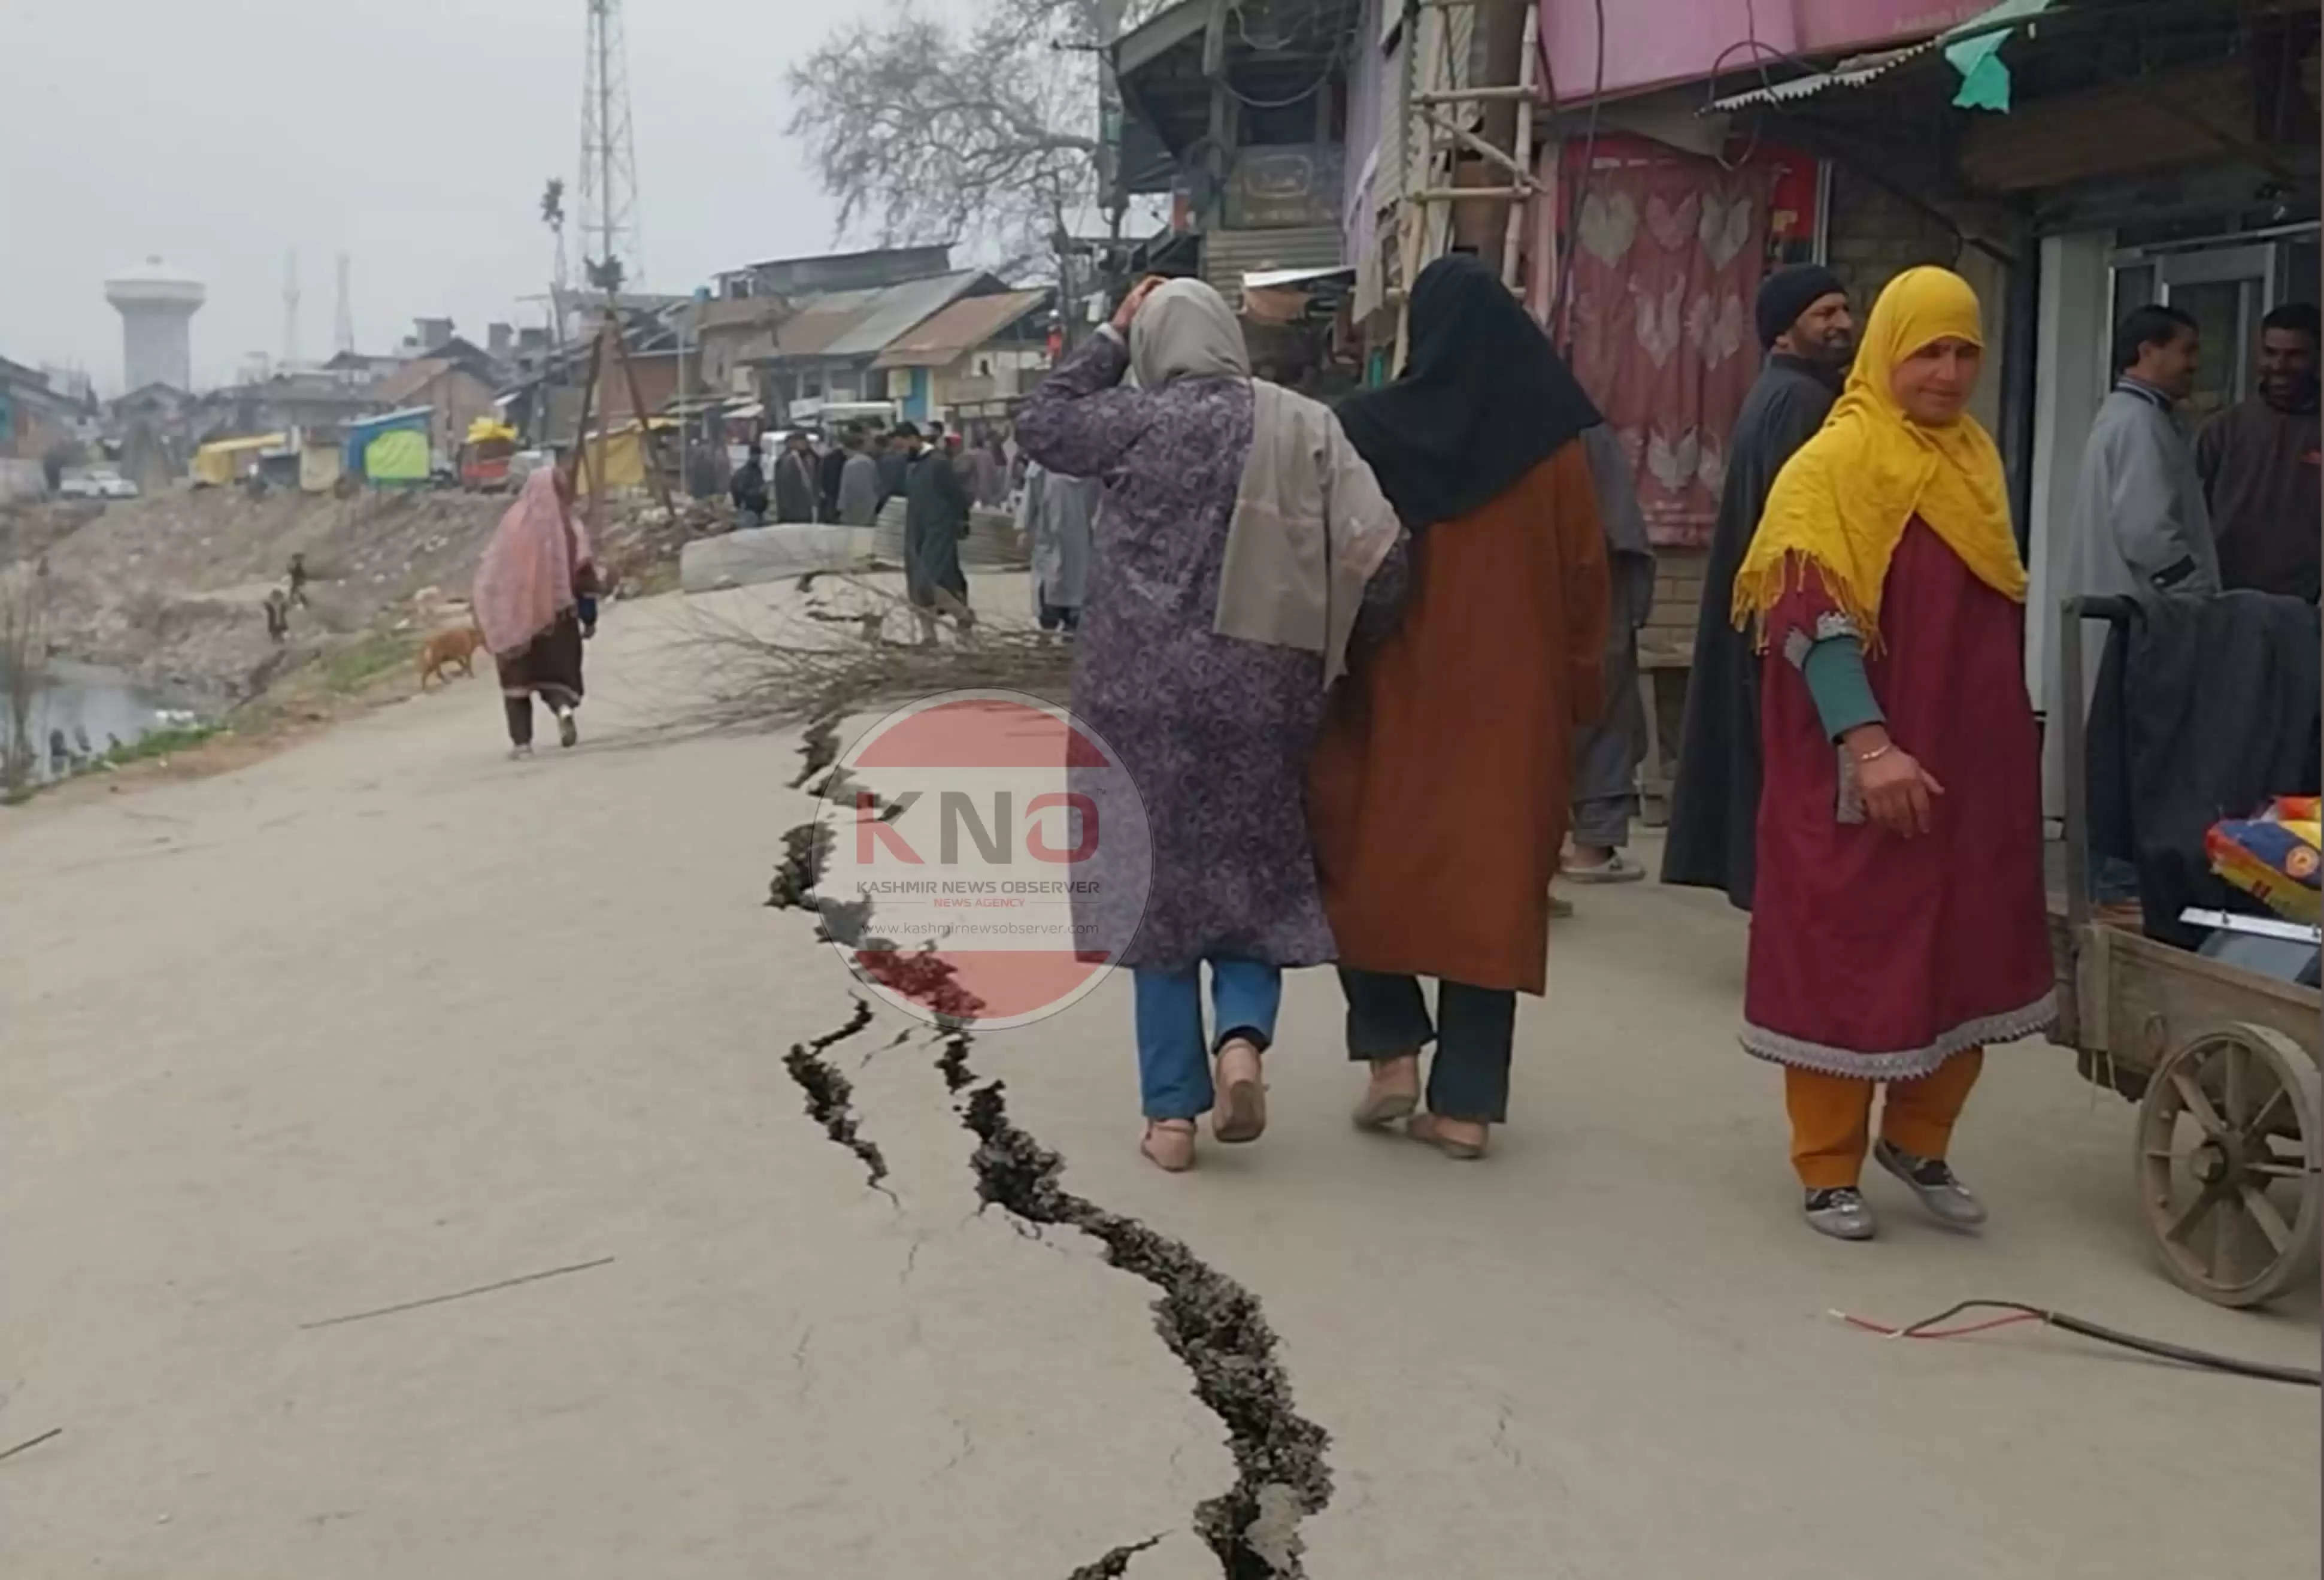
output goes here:
[[1550, 337], [1469, 253], [1413, 281], [1404, 376], [1339, 404], [1341, 428], [1413, 532], [1494, 500], [1599, 421]]

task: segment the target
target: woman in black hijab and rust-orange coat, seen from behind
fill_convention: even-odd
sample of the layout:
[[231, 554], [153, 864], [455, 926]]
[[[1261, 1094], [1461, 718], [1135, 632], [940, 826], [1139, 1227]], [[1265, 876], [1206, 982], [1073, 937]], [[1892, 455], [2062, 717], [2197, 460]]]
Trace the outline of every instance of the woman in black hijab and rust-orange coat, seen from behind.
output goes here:
[[1420, 274], [1411, 346], [1401, 379], [1339, 407], [1415, 534], [1415, 590], [1334, 695], [1308, 811], [1348, 1055], [1371, 1071], [1355, 1122], [1413, 1115], [1415, 1139], [1483, 1157], [1518, 992], [1548, 974], [1573, 737], [1601, 706], [1606, 539], [1573, 444], [1599, 414], [1476, 258]]

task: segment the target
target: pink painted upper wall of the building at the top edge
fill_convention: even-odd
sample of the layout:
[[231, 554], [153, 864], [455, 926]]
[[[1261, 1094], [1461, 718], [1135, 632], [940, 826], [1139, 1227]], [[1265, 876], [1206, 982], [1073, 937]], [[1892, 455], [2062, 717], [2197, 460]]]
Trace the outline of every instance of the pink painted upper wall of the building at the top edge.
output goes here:
[[1992, 0], [1541, 0], [1541, 49], [1555, 98], [1569, 105], [1701, 81], [1778, 56], [1922, 40], [1985, 9]]

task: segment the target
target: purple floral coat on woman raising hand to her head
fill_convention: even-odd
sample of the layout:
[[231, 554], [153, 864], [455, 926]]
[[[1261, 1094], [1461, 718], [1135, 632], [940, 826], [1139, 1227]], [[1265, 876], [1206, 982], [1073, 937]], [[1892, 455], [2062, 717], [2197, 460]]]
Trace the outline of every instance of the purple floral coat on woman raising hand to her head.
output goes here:
[[[1074, 653], [1074, 713], [1129, 769], [1153, 834], [1132, 967], [1332, 960], [1306, 827], [1322, 725], [1322, 655], [1218, 637], [1227, 523], [1250, 453], [1243, 379], [1120, 388], [1129, 349], [1095, 335], [1018, 409], [1018, 444], [1050, 472], [1104, 481]], [[1401, 586], [1404, 551], [1373, 576]], [[1371, 595], [1367, 595], [1371, 604]], [[1092, 776], [1083, 788], [1097, 792]], [[1104, 813], [1104, 797], [1099, 797]], [[1116, 850], [1120, 857], [1122, 853]], [[1122, 885], [1092, 857], [1097, 939], [1120, 939]], [[1078, 904], [1078, 902], [1076, 902]]]

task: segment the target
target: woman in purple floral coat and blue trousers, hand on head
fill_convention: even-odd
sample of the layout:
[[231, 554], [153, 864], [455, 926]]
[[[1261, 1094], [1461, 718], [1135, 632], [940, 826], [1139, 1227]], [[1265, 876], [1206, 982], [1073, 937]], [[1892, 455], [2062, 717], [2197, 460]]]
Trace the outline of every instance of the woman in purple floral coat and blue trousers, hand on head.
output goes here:
[[1334, 957], [1306, 764], [1357, 609], [1401, 590], [1401, 530], [1336, 418], [1250, 379], [1241, 325], [1199, 281], [1132, 290], [1025, 400], [1018, 444], [1106, 488], [1074, 713], [1129, 771], [1153, 871], [1141, 918], [1090, 920], [1099, 939], [1134, 927], [1141, 1150], [1176, 1173], [1199, 1113], [1220, 1141], [1267, 1127], [1283, 967]]

